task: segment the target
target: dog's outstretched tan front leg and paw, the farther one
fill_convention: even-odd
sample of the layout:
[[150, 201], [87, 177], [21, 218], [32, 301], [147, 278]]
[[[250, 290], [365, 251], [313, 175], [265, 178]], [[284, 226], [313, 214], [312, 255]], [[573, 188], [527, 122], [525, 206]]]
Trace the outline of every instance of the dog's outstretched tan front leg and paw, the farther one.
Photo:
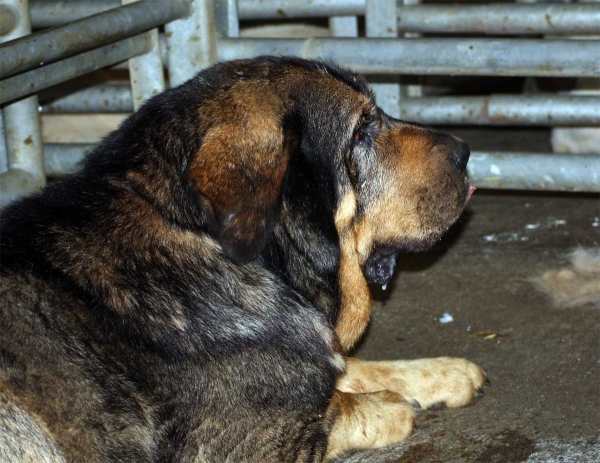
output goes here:
[[481, 368], [468, 360], [439, 357], [368, 362], [348, 359], [337, 388], [346, 392], [389, 390], [417, 408], [462, 407], [483, 395], [489, 384]]

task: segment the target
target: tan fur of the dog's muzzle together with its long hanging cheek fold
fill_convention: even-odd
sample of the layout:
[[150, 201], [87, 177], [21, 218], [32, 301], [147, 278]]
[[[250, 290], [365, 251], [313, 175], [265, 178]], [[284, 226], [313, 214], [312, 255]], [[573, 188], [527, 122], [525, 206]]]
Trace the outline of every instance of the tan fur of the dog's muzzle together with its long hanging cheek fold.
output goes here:
[[[457, 208], [464, 185], [447, 175], [447, 147], [435, 144], [428, 129], [400, 125], [375, 140], [380, 165], [376, 199], [356, 217], [353, 190], [343, 196], [335, 215], [340, 238], [341, 309], [336, 332], [344, 349], [360, 339], [370, 319], [371, 294], [362, 266], [377, 243], [431, 241], [462, 212]], [[400, 155], [398, 155], [400, 153]], [[441, 161], [441, 162], [440, 162]], [[441, 225], [444, 224], [444, 225]]]

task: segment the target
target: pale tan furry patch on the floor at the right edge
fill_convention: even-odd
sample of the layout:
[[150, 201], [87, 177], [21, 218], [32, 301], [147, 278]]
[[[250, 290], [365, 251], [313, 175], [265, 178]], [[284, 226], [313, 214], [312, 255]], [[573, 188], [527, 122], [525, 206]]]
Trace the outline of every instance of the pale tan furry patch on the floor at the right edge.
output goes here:
[[570, 265], [550, 270], [532, 280], [547, 294], [556, 307], [600, 308], [600, 249], [574, 250], [569, 255]]

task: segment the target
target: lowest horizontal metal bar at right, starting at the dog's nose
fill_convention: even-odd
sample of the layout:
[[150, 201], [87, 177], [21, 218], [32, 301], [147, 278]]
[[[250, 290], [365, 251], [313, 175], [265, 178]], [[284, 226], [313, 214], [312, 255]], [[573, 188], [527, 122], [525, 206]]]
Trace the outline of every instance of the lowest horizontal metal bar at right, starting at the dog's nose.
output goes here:
[[478, 188], [600, 191], [597, 154], [474, 152], [467, 172]]

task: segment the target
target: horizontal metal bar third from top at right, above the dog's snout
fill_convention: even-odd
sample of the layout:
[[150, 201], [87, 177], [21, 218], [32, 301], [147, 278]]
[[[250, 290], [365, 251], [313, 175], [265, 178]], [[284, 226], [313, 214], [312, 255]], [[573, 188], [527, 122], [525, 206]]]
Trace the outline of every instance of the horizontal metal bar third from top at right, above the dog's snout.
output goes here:
[[432, 125], [600, 125], [600, 98], [574, 95], [491, 95], [402, 100], [402, 119]]

